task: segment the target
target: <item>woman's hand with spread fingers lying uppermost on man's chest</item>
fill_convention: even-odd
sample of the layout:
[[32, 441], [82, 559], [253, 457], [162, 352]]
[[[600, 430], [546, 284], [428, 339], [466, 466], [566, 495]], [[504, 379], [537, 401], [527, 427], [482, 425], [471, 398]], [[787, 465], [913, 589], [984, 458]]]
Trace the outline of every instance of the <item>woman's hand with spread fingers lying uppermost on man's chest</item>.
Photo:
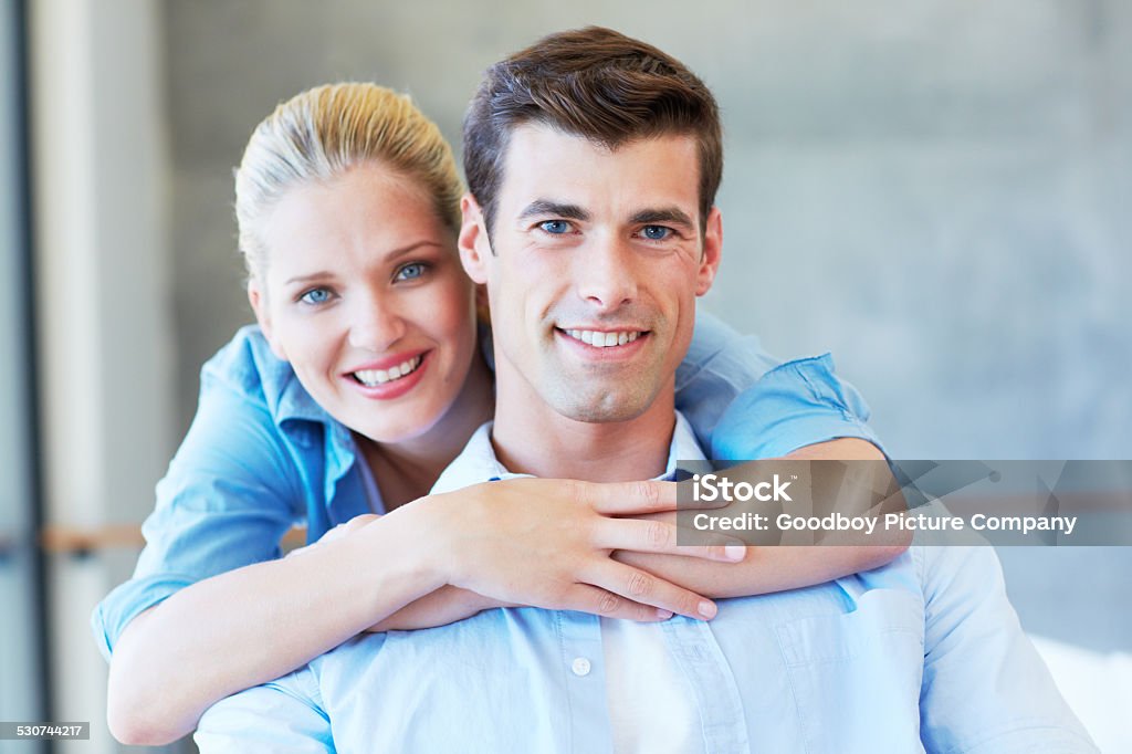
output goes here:
[[[406, 508], [428, 519], [420, 546], [440, 554], [447, 583], [487, 598], [479, 601], [441, 590], [466, 599], [473, 612], [508, 603], [634, 620], [663, 620], [674, 612], [711, 618], [711, 600], [618, 563], [610, 554], [629, 550], [734, 563], [746, 551], [739, 540], [726, 537], [711, 546], [677, 546], [672, 523], [618, 517], [675, 511], [675, 482], [509, 479], [431, 495]], [[394, 624], [400, 615], [391, 617]], [[457, 617], [465, 616], [443, 622]], [[386, 620], [379, 627], [420, 627], [409, 624]]]

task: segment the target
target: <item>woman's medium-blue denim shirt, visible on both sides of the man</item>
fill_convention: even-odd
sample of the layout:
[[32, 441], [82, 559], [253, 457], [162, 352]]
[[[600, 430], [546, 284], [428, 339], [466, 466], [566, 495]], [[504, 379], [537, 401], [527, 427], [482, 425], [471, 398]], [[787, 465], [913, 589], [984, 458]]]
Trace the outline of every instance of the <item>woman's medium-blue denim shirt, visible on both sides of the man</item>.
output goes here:
[[[779, 366], [757, 339], [706, 312], [697, 314], [676, 385], [677, 408], [714, 457], [773, 457], [837, 437], [876, 443], [868, 409], [833, 375], [829, 355]], [[315, 402], [259, 328], [239, 331], [201, 370], [197, 415], [157, 485], [134, 577], [95, 608], [102, 653], [109, 658], [135, 616], [178, 590], [280, 557], [292, 525], [306, 526], [314, 542], [379, 507], [357, 461], [350, 430]]]

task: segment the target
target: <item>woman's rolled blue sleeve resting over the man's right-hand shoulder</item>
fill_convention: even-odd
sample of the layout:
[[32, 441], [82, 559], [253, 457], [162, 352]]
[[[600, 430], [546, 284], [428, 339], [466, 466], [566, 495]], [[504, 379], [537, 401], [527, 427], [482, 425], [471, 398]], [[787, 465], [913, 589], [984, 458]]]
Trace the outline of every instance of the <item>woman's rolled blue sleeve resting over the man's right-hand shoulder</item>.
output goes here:
[[834, 374], [829, 353], [788, 361], [731, 401], [712, 432], [711, 457], [780, 457], [841, 437], [857, 437], [881, 447], [868, 417], [865, 400]]

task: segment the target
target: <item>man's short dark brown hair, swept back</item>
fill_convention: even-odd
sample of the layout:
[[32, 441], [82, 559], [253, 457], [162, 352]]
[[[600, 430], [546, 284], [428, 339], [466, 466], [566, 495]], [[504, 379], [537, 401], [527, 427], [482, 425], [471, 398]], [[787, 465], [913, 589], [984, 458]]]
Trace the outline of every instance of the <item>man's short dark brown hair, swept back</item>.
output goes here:
[[688, 135], [700, 149], [700, 224], [723, 174], [715, 97], [680, 61], [600, 26], [551, 34], [489, 68], [464, 118], [464, 173], [487, 230], [495, 223], [511, 132], [551, 126], [609, 149]]

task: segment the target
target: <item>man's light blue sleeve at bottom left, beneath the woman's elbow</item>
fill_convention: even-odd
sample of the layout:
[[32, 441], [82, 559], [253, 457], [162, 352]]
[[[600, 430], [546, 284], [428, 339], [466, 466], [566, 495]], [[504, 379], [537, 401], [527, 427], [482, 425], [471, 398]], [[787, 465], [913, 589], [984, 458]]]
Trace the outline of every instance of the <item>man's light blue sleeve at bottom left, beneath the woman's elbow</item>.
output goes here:
[[200, 718], [200, 754], [333, 754], [331, 720], [308, 668], [233, 694]]

